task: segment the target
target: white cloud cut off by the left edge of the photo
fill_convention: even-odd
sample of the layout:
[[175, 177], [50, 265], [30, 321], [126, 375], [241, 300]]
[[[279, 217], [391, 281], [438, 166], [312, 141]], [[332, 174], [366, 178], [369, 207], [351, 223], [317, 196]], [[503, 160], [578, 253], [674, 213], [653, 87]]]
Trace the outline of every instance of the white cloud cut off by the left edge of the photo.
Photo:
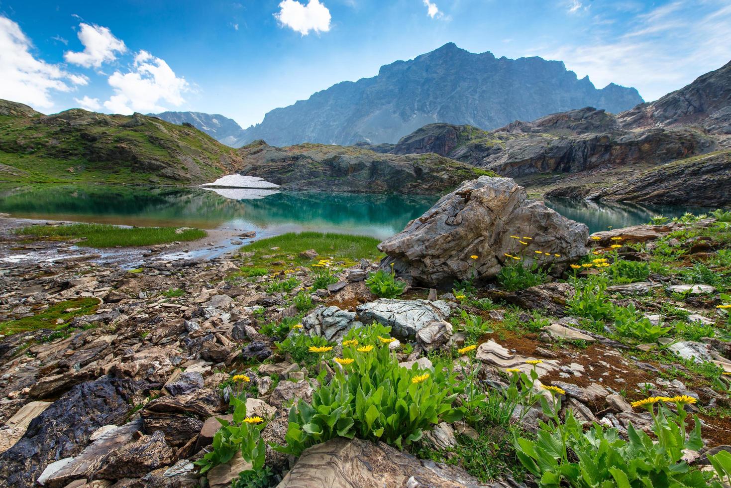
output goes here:
[[55, 64], [36, 59], [33, 45], [18, 23], [0, 16], [0, 98], [35, 108], [53, 107], [50, 91], [70, 91], [67, 73]]

